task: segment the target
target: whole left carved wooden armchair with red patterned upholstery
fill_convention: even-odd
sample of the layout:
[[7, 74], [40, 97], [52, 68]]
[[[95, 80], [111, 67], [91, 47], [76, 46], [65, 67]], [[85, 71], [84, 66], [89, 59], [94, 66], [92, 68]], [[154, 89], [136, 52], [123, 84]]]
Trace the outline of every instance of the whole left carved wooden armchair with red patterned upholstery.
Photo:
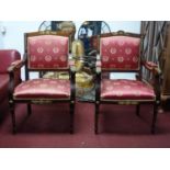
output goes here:
[[[10, 109], [13, 133], [15, 125], [15, 103], [49, 104], [55, 102], [70, 103], [70, 133], [73, 132], [75, 110], [75, 68], [69, 63], [69, 38], [58, 36], [55, 32], [25, 33], [24, 59], [12, 66], [10, 71]], [[13, 87], [14, 71], [25, 66], [25, 81]], [[30, 79], [31, 71], [67, 71], [69, 79], [37, 78]]]

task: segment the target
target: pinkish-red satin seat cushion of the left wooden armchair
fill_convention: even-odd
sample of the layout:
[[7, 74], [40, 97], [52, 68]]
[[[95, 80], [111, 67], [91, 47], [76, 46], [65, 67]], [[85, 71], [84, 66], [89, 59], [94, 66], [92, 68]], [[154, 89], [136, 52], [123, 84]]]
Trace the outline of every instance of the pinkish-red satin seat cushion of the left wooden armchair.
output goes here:
[[33, 79], [14, 89], [15, 99], [61, 99], [70, 97], [70, 81], [60, 79]]

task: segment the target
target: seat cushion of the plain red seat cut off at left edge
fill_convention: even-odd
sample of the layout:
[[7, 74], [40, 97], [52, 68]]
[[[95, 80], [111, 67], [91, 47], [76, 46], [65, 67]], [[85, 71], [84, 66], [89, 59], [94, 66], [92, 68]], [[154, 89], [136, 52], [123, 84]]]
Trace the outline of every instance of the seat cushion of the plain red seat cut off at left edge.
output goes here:
[[0, 101], [8, 95], [9, 75], [0, 75]]

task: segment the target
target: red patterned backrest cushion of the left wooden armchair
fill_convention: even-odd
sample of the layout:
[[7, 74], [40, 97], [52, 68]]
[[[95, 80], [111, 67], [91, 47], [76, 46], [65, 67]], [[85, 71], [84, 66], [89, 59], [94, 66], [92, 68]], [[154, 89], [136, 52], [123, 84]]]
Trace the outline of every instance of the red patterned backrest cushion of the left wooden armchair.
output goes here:
[[68, 67], [68, 37], [38, 35], [27, 37], [29, 69], [58, 69]]

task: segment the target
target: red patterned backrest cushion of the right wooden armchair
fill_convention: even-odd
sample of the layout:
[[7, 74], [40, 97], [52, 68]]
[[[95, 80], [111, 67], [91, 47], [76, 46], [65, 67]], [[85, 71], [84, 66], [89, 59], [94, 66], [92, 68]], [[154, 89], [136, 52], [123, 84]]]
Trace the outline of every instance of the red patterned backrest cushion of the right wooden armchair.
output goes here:
[[102, 37], [100, 56], [102, 69], [139, 70], [140, 38], [121, 35]]

